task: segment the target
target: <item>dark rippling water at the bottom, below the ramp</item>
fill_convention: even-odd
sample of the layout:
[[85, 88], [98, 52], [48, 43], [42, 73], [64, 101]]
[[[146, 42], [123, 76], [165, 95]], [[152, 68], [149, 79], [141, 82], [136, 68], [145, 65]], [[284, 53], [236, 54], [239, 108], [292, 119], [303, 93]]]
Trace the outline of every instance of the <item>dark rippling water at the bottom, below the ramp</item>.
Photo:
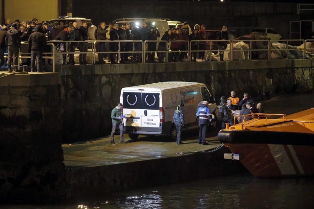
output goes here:
[[114, 193], [58, 205], [0, 205], [0, 208], [314, 208], [313, 194], [314, 178], [255, 179], [244, 174]]

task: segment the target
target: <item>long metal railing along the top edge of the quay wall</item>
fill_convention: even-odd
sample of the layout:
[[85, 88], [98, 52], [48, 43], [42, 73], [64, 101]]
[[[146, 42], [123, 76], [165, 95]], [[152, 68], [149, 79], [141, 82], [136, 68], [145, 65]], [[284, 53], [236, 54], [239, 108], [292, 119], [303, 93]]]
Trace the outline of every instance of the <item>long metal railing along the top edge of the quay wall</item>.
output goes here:
[[[234, 46], [233, 44], [237, 43], [237, 42], [241, 42], [243, 41], [244, 43], [246, 42], [249, 42], [249, 49], [234, 49]], [[273, 42], [285, 42], [286, 43], [286, 48], [285, 49], [272, 49], [271, 46], [273, 44]], [[297, 49], [289, 49], [289, 42], [300, 42], [300, 43], [303, 43], [303, 47], [302, 48], [297, 48]], [[69, 52], [68, 51], [68, 43], [88, 43], [88, 44], [91, 44], [91, 50], [87, 51], [87, 52], [80, 52], [79, 50], [75, 50], [74, 49], [74, 52]], [[97, 43], [101, 43], [101, 42], [105, 42], [105, 43], [112, 43], [112, 42], [116, 42], [118, 44], [118, 49], [117, 51], [97, 51], [97, 48], [96, 48], [96, 45]], [[149, 42], [156, 42], [158, 45], [160, 42], [165, 42], [166, 43], [166, 47], [165, 47], [165, 50], [163, 51], [159, 51], [159, 50], [155, 50], [155, 51], [148, 51], [148, 50], [145, 50], [145, 44], [146, 43], [149, 43]], [[96, 60], [95, 60], [95, 55], [96, 53], [97, 54], [101, 54], [101, 53], [106, 53], [106, 54], [117, 54], [118, 55], [118, 63], [120, 63], [120, 57], [121, 57], [121, 54], [125, 54], [125, 53], [132, 53], [132, 54], [139, 54], [141, 53], [142, 54], [142, 62], [145, 63], [145, 56], [147, 53], [165, 53], [165, 61], [167, 62], [168, 61], [168, 55], [170, 53], [177, 53], [177, 52], [183, 52], [183, 53], [187, 53], [187, 60], [188, 61], [191, 61], [191, 58], [192, 58], [192, 53], [194, 52], [206, 52], [208, 51], [209, 53], [212, 53], [212, 52], [223, 52], [223, 51], [227, 51], [227, 52], [230, 52], [230, 61], [233, 61], [234, 60], [234, 52], [237, 52], [237, 51], [243, 51], [243, 52], [249, 52], [250, 55], [249, 55], [249, 60], [252, 60], [252, 52], [254, 51], [267, 51], [268, 52], [268, 59], [271, 59], [271, 54], [273, 51], [285, 51], [286, 52], [286, 56], [285, 56], [285, 59], [289, 59], [289, 56], [288, 56], [288, 52], [289, 51], [293, 51], [293, 50], [299, 50], [299, 51], [302, 51], [303, 53], [303, 59], [306, 58], [307, 56], [307, 52], [310, 51], [312, 53], [314, 53], [314, 49], [313, 48], [308, 48], [307, 47], [307, 43], [308, 42], [314, 42], [314, 39], [306, 39], [306, 40], [303, 40], [303, 39], [285, 39], [285, 40], [192, 40], [192, 41], [186, 41], [186, 40], [176, 40], [176, 41], [173, 41], [173, 42], [187, 42], [187, 50], [176, 50], [176, 51], [171, 51], [171, 50], [168, 50], [168, 45], [169, 43], [167, 43], [167, 41], [161, 41], [161, 40], [146, 40], [146, 41], [141, 41], [141, 40], [132, 40], [132, 41], [92, 41], [92, 40], [88, 40], [88, 41], [47, 41], [47, 44], [48, 45], [51, 45], [52, 46], [52, 51], [51, 52], [44, 52], [43, 54], [46, 54], [46, 55], [51, 55], [51, 56], [43, 56], [42, 58], [43, 59], [52, 59], [53, 60], [53, 72], [55, 72], [55, 61], [56, 61], [56, 55], [58, 54], [61, 54], [61, 55], [65, 55], [66, 57], [68, 56], [68, 54], [91, 54], [91, 58], [92, 58], [92, 64], [95, 64], [96, 63]], [[209, 50], [206, 50], [206, 46], [205, 46], [205, 50], [192, 50], [192, 44], [193, 42], [207, 42], [209, 43]], [[212, 44], [213, 43], [217, 43], [217, 42], [228, 42], [230, 44], [230, 48], [229, 49], [225, 49], [225, 50], [216, 50], [216, 49], [212, 49]], [[268, 45], [267, 45], [267, 49], [252, 49], [252, 43], [253, 42], [267, 42]], [[56, 43], [64, 43], [65, 44], [65, 51], [64, 52], [57, 52], [56, 51]], [[134, 47], [134, 44], [135, 43], [141, 43], [142, 45], [142, 49], [141, 51], [121, 51], [121, 43], [132, 43], [132, 47]], [[21, 44], [28, 44], [27, 42], [22, 42]], [[266, 47], [266, 44], [265, 44], [265, 47]], [[281, 53], [280, 53], [281, 54]], [[4, 54], [4, 58], [8, 58], [8, 53], [5, 53]], [[31, 58], [31, 53], [30, 52], [24, 52], [24, 51], [19, 51], [19, 58]], [[66, 64], [68, 63], [68, 60], [65, 59], [63, 60]], [[20, 59], [18, 59], [18, 65], [20, 64]]]

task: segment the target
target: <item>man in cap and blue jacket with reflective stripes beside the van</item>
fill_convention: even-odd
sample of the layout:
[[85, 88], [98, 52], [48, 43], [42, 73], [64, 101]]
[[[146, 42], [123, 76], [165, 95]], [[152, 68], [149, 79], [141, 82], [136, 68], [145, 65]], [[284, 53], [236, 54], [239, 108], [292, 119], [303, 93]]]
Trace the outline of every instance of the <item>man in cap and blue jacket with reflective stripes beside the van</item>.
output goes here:
[[212, 115], [208, 109], [208, 102], [203, 101], [203, 105], [196, 112], [196, 121], [199, 119], [198, 144], [206, 145], [206, 130], [208, 123], [212, 121]]

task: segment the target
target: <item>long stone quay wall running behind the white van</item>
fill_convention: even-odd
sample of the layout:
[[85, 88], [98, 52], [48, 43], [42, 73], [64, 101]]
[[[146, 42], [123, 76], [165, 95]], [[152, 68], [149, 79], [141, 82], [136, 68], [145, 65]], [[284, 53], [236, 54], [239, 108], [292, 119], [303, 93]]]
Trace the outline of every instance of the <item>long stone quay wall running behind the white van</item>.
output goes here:
[[[62, 66], [64, 142], [108, 134], [111, 110], [123, 87], [161, 81], [206, 84], [216, 96], [235, 90], [255, 100], [314, 89], [312, 60], [259, 60], [130, 65]], [[67, 71], [65, 69], [68, 69]]]

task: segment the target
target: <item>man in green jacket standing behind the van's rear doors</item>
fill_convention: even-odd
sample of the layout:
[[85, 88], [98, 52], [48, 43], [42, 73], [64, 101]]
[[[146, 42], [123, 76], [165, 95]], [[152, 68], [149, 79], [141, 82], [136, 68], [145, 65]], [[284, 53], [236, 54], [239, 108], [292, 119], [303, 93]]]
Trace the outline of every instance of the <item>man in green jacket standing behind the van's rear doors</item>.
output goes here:
[[120, 142], [125, 142], [123, 139], [124, 129], [123, 129], [122, 121], [121, 121], [121, 118], [122, 118], [121, 108], [123, 108], [123, 105], [121, 103], [118, 103], [118, 105], [115, 108], [113, 108], [111, 111], [112, 131], [110, 135], [110, 139], [111, 139], [110, 143], [112, 144], [116, 144], [114, 141], [114, 135], [115, 135], [117, 126], [119, 126], [120, 128]]

